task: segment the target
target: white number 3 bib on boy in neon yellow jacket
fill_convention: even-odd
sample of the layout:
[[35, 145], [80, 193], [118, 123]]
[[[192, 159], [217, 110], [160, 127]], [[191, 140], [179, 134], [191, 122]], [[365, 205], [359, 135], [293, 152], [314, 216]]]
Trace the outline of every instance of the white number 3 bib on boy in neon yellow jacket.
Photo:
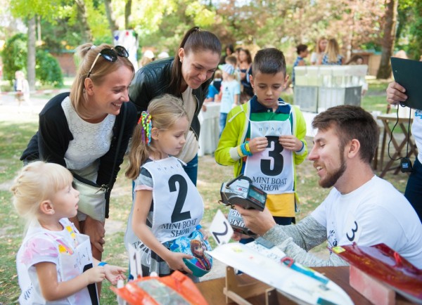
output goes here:
[[245, 162], [245, 176], [252, 179], [257, 188], [268, 194], [293, 193], [293, 153], [279, 143], [279, 136], [291, 135], [290, 120], [250, 121], [250, 138], [265, 136], [268, 145], [262, 152], [248, 156]]

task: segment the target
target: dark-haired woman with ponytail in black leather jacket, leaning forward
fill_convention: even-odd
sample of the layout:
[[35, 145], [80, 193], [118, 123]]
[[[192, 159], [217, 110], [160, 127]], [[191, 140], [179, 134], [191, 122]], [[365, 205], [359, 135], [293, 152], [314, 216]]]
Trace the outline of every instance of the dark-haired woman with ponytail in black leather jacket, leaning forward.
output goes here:
[[174, 58], [155, 60], [141, 67], [129, 88], [129, 97], [138, 108], [138, 115], [146, 110], [153, 98], [164, 93], [184, 101], [191, 128], [183, 150], [176, 157], [186, 162], [184, 169], [195, 185], [200, 132], [198, 114], [217, 70], [221, 51], [222, 45], [215, 34], [193, 27], [184, 35]]

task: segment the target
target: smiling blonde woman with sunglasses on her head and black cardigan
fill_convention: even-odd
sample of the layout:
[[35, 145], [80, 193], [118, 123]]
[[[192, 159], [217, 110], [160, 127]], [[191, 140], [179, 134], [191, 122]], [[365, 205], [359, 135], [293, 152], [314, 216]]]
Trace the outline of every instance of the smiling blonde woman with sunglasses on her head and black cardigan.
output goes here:
[[[134, 67], [122, 46], [84, 44], [78, 51], [82, 60], [70, 93], [60, 93], [46, 103], [39, 113], [37, 134], [20, 160], [61, 164], [111, 190], [136, 125], [136, 108], [127, 103]], [[92, 254], [101, 261], [104, 221], [91, 216], [78, 211], [77, 217], [70, 220], [81, 233], [89, 235]]]

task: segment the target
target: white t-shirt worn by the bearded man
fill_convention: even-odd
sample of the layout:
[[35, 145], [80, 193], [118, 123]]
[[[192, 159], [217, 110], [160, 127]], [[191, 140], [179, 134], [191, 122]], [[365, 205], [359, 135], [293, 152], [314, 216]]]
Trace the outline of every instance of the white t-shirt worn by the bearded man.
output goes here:
[[378, 176], [345, 195], [333, 188], [312, 216], [326, 227], [329, 247], [384, 243], [422, 268], [422, 223], [402, 193]]

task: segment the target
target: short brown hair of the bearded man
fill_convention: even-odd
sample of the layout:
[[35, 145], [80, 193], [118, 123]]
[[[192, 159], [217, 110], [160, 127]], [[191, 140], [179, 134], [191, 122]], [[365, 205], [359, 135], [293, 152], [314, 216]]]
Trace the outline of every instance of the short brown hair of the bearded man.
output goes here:
[[380, 129], [371, 113], [358, 106], [339, 105], [316, 115], [312, 127], [322, 131], [333, 128], [342, 148], [352, 139], [357, 139], [361, 145], [361, 159], [371, 164], [380, 136]]

